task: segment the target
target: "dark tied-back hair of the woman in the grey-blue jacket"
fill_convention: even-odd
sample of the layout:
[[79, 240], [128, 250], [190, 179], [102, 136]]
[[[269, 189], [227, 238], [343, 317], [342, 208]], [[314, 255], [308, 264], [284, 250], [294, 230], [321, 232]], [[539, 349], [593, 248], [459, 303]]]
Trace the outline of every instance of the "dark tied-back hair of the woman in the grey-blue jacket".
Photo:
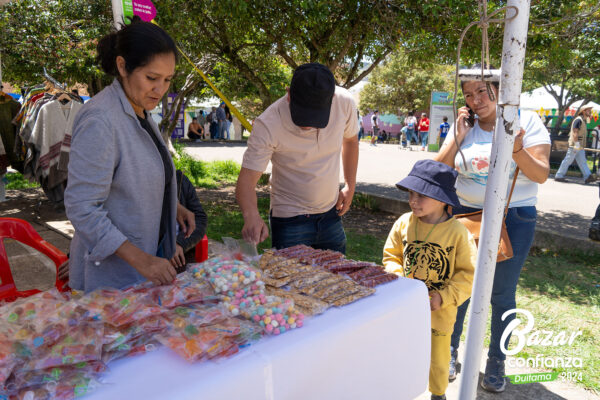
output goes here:
[[109, 75], [119, 76], [117, 57], [125, 59], [128, 73], [148, 64], [157, 54], [172, 53], [178, 59], [177, 46], [167, 32], [140, 17], [131, 19], [131, 24], [118, 32], [111, 32], [98, 42], [96, 60]]

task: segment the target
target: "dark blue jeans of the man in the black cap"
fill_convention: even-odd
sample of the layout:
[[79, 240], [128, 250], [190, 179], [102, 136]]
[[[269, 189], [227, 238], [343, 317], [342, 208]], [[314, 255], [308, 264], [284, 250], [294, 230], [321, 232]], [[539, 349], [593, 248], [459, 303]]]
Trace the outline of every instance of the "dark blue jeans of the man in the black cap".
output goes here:
[[335, 207], [322, 214], [279, 218], [270, 216], [273, 247], [283, 249], [305, 244], [315, 249], [346, 253], [346, 233]]

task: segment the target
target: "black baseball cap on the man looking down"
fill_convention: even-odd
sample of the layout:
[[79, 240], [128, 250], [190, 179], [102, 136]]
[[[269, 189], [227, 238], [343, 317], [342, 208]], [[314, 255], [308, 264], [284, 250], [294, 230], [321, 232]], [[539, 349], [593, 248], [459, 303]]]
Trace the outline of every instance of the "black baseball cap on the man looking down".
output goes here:
[[333, 74], [323, 64], [302, 64], [290, 84], [290, 113], [297, 126], [325, 128], [335, 93]]

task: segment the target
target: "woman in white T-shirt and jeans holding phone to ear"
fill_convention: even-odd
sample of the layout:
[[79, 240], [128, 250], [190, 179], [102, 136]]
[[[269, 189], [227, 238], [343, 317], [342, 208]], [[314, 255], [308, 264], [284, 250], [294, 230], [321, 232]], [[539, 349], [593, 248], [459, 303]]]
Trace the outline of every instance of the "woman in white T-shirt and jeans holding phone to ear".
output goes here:
[[[481, 65], [472, 68], [481, 69]], [[483, 209], [498, 98], [498, 83], [489, 86], [493, 96], [488, 93], [488, 84], [482, 81], [461, 82], [461, 87], [467, 105], [458, 110], [456, 123], [450, 128], [444, 145], [435, 158], [458, 171], [456, 193], [463, 207], [453, 210], [453, 214]], [[521, 130], [515, 137], [512, 150], [511, 176], [506, 189], [508, 193], [518, 166], [521, 172], [506, 215], [506, 228], [514, 257], [496, 264], [491, 298], [490, 347], [485, 375], [481, 382], [481, 386], [490, 392], [502, 392], [506, 386], [506, 355], [501, 350], [500, 338], [508, 323], [514, 319], [514, 314], [504, 321], [501, 318], [504, 312], [516, 308], [517, 282], [535, 231], [538, 184], [546, 181], [550, 171], [550, 135], [538, 115], [521, 111], [520, 126]], [[459, 147], [464, 154], [464, 160]], [[451, 340], [450, 381], [456, 378], [457, 349], [468, 304], [469, 300], [461, 305], [456, 316]], [[508, 346], [509, 340], [510, 335], [506, 338], [504, 348]]]

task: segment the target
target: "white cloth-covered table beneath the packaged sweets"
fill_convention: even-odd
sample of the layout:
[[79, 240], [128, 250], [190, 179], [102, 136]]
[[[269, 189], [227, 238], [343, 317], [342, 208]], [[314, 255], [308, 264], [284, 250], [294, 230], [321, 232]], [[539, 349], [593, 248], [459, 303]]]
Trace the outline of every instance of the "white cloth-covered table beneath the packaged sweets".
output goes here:
[[427, 389], [430, 320], [425, 285], [400, 278], [228, 359], [190, 364], [160, 348], [115, 361], [86, 399], [414, 399]]

